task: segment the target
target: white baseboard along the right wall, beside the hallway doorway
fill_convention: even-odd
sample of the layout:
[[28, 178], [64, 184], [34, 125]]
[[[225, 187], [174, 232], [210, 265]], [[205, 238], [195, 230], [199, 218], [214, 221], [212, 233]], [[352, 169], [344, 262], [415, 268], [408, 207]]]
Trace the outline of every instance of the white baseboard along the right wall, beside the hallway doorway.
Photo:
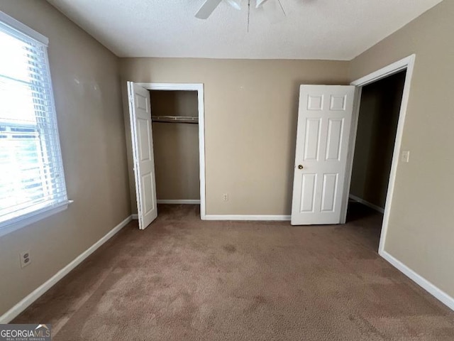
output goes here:
[[414, 272], [408, 266], [403, 264], [402, 261], [399, 261], [395, 259], [393, 256], [391, 256], [391, 254], [388, 254], [387, 251], [380, 251], [379, 253], [380, 256], [389, 261], [389, 263], [392, 264], [392, 266], [401, 271], [405, 276], [409, 277], [412, 281], [421, 286], [421, 288], [423, 288], [432, 296], [437, 298], [438, 301], [441, 301], [441, 303], [448, 306], [448, 308], [454, 310], [454, 298], [449, 296], [447, 293], [445, 293], [437, 286], [434, 286], [431, 282], [426, 280], [426, 278], [423, 278], [423, 276], [416, 274], [416, 272]]

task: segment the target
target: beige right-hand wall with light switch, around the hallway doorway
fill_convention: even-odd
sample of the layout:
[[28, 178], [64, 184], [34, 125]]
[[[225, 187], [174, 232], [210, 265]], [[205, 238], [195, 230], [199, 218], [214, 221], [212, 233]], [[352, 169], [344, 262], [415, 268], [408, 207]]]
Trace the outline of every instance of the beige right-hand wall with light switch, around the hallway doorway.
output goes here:
[[385, 251], [454, 296], [454, 1], [350, 63], [350, 80], [416, 53]]

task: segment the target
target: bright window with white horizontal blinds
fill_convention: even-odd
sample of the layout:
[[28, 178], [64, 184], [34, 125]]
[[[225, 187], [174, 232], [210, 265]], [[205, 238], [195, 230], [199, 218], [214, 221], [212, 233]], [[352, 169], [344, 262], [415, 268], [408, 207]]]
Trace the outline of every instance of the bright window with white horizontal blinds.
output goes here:
[[47, 43], [0, 12], [0, 231], [68, 203]]

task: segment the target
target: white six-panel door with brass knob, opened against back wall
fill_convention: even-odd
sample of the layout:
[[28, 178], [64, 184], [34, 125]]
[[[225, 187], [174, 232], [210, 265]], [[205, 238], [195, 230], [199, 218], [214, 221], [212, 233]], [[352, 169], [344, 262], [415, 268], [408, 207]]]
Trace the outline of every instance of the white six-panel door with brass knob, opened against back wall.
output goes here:
[[292, 225], [340, 224], [355, 87], [301, 85]]

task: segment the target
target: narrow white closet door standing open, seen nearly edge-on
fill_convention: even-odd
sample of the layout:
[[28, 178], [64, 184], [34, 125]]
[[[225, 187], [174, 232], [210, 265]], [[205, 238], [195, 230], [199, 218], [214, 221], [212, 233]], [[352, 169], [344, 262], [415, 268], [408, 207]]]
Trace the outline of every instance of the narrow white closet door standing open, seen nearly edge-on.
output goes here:
[[139, 229], [145, 229], [157, 217], [150, 93], [128, 82], [128, 97]]

